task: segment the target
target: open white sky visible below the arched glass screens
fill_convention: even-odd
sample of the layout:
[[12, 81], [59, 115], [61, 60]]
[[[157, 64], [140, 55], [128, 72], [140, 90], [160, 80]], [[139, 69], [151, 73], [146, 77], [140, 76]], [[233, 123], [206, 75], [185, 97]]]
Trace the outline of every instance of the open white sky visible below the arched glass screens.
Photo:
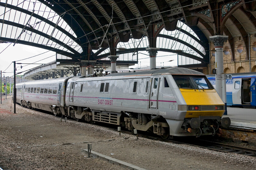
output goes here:
[[[149, 59], [149, 56], [147, 56], [148, 52], [140, 52], [140, 53], [144, 53], [144, 54], [139, 54], [140, 60], [138, 60], [139, 61], [138, 64], [136, 64], [135, 66], [130, 66], [130, 68], [149, 66], [150, 59]], [[40, 66], [41, 64], [54, 61], [55, 54], [56, 54], [55, 52], [33, 47], [33, 46], [27, 46], [22, 44], [15, 44], [15, 46], [13, 46], [13, 43], [11, 45], [10, 43], [0, 43], [0, 59], [1, 59], [0, 70], [2, 70], [2, 72], [4, 71], [7, 72], [7, 73], [2, 73], [2, 77], [3, 75], [5, 75], [5, 77], [13, 76], [13, 63], [12, 63], [13, 61], [16, 61], [16, 63], [23, 63], [23, 64], [16, 64], [16, 68], [17, 68], [16, 73], [23, 72], [21, 74], [18, 74], [18, 75], [23, 75], [24, 73], [27, 72], [26, 70], [32, 69], [36, 66]], [[159, 56], [156, 58], [157, 66], [177, 65], [176, 54], [158, 52], [157, 56]], [[32, 57], [32, 58], [29, 58], [29, 57]], [[26, 59], [26, 58], [29, 58], [29, 59]], [[23, 60], [23, 59], [26, 59], [26, 60]], [[22, 60], [22, 61], [18, 61], [18, 60]], [[174, 61], [168, 62], [169, 60], [174, 60]], [[26, 64], [26, 63], [34, 63], [34, 62], [39, 64], [30, 64], [30, 65]], [[22, 66], [22, 69], [20, 68], [20, 66]]]

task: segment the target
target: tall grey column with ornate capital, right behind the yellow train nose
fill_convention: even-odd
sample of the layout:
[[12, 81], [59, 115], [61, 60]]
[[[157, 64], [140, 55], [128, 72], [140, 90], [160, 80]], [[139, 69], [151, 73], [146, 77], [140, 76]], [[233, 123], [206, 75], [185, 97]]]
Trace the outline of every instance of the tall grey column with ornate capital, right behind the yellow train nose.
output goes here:
[[[213, 42], [215, 47], [215, 89], [220, 95], [221, 99], [227, 106], [226, 101], [226, 75], [223, 69], [223, 44], [228, 40], [228, 36], [210, 36], [210, 41]], [[227, 114], [227, 112], [225, 112]]]

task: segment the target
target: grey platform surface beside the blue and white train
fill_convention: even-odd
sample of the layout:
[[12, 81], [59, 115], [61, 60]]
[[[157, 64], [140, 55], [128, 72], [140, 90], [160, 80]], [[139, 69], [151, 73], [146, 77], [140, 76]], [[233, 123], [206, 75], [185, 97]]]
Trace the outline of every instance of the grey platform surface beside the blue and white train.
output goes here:
[[227, 115], [231, 120], [231, 127], [256, 129], [256, 109], [227, 107]]

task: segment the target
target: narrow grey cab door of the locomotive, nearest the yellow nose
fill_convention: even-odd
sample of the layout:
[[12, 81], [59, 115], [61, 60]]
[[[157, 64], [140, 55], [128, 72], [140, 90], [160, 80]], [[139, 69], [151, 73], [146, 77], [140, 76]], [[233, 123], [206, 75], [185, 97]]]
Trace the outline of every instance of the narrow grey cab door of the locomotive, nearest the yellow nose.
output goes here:
[[158, 89], [159, 89], [159, 77], [153, 77], [150, 94], [150, 107], [152, 110], [156, 110], [158, 106]]

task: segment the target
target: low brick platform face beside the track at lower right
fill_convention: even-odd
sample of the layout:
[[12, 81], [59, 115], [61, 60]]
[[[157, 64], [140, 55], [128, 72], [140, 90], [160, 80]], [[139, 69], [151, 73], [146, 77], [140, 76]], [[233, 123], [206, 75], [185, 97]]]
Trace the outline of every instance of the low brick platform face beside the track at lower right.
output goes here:
[[225, 128], [221, 133], [217, 133], [219, 137], [228, 138], [236, 143], [248, 142], [256, 144], [256, 130], [241, 128]]

